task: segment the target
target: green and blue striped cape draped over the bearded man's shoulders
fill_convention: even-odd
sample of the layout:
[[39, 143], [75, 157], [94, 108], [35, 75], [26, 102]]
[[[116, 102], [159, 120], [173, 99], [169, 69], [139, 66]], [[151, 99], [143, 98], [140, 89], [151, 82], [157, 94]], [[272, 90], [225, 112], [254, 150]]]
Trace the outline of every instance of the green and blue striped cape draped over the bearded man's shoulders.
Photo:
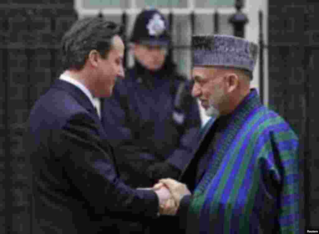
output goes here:
[[217, 145], [194, 191], [187, 233], [299, 233], [298, 138], [256, 90]]

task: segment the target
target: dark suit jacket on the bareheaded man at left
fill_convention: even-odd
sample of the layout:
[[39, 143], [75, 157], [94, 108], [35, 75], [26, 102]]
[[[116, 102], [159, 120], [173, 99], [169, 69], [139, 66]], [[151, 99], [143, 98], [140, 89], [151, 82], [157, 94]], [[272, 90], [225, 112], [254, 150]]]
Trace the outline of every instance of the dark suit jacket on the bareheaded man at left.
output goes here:
[[116, 219], [156, 216], [156, 194], [118, 179], [92, 103], [68, 82], [56, 80], [35, 103], [27, 152], [33, 167], [33, 234], [92, 234], [103, 226], [112, 233]]

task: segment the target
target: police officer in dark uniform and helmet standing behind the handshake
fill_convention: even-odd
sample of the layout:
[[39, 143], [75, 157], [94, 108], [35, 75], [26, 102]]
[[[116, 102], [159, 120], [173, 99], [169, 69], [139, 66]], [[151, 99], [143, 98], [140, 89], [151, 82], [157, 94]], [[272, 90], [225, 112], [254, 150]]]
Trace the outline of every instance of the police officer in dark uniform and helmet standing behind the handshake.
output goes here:
[[[111, 132], [118, 173], [133, 188], [152, 187], [161, 178], [178, 179], [192, 157], [192, 143], [201, 126], [190, 82], [168, 56], [170, 39], [163, 14], [144, 9], [130, 38], [134, 67], [102, 104], [102, 123]], [[118, 228], [121, 233], [149, 233], [173, 218], [119, 222]]]

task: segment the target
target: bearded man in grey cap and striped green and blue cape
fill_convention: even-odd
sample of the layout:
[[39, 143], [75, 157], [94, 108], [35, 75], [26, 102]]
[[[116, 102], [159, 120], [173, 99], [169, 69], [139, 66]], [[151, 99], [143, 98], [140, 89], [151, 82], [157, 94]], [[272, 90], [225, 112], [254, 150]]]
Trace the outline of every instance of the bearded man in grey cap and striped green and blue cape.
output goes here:
[[[186, 233], [299, 233], [298, 138], [264, 107], [250, 80], [257, 46], [225, 35], [193, 36], [193, 96], [209, 122], [181, 181], [160, 180]], [[187, 185], [187, 186], [186, 186]]]

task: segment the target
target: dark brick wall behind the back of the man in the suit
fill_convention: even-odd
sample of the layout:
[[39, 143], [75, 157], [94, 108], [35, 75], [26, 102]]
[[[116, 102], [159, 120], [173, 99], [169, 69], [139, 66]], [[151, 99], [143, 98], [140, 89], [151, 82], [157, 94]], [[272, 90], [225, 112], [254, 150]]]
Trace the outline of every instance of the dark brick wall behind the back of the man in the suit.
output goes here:
[[1, 0], [0, 233], [31, 233], [24, 123], [34, 101], [57, 76], [57, 48], [76, 18], [73, 0]]

